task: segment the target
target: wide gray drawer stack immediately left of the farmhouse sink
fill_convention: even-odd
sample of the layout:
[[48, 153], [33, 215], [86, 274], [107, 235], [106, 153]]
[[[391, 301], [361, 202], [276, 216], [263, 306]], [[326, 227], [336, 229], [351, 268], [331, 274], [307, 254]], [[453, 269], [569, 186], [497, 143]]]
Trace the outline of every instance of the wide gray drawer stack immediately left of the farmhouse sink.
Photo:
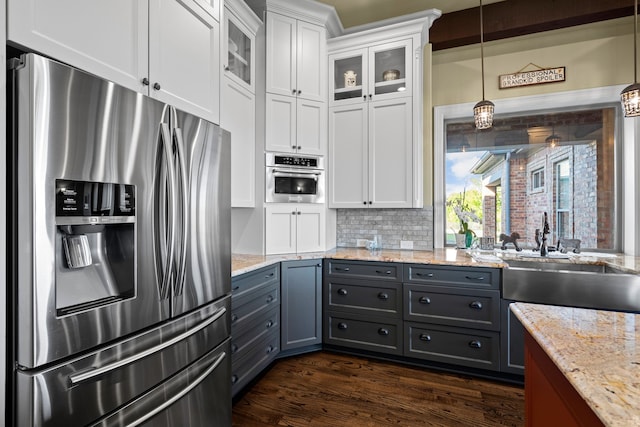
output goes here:
[[500, 270], [404, 266], [404, 355], [500, 370]]

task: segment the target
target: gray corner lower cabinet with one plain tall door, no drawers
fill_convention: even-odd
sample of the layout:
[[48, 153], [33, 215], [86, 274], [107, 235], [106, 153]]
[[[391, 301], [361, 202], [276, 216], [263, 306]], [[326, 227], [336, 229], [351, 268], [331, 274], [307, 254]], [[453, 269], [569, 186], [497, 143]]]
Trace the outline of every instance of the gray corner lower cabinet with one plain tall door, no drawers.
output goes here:
[[281, 263], [281, 350], [322, 345], [322, 260]]

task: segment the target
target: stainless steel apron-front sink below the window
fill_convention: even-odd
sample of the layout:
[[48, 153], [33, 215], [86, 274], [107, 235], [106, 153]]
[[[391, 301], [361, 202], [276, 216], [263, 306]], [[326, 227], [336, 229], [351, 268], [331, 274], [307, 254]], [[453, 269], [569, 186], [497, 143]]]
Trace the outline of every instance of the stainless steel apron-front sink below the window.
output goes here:
[[506, 261], [503, 298], [523, 302], [640, 312], [640, 276], [608, 265]]

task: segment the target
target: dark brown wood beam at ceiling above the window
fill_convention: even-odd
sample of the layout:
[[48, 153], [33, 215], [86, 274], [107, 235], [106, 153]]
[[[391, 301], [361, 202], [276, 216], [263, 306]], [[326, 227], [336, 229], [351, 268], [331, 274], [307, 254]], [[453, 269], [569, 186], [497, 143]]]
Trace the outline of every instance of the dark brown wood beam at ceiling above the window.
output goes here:
[[[484, 41], [633, 15], [634, 0], [507, 0], [483, 5]], [[480, 8], [444, 14], [429, 30], [433, 50], [480, 43]]]

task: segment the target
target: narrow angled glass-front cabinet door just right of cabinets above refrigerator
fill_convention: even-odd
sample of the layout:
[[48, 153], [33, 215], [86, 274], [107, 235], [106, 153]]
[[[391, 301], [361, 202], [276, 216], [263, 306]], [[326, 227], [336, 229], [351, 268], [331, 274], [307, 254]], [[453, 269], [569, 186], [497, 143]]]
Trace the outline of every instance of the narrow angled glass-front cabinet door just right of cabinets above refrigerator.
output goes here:
[[237, 82], [246, 85], [251, 92], [254, 91], [253, 52], [255, 38], [242, 23], [236, 21], [233, 16], [227, 15], [226, 43], [227, 50], [225, 72]]

